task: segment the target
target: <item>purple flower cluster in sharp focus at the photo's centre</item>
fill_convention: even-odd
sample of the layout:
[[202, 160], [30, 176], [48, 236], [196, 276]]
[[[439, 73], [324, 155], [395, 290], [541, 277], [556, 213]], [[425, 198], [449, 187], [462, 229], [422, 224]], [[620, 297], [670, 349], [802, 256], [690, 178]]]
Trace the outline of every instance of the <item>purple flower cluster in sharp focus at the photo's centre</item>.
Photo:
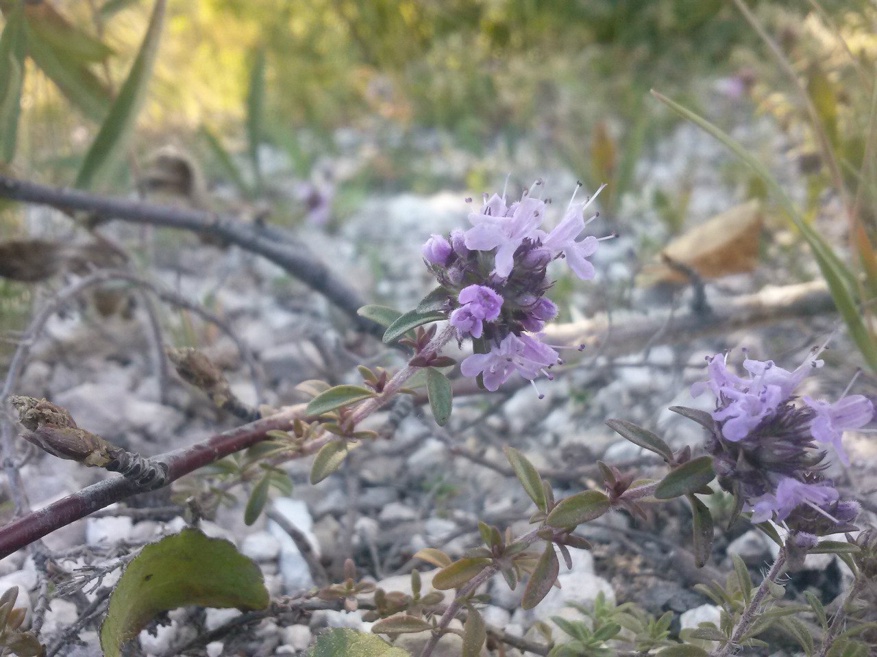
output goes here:
[[[533, 187], [540, 185], [537, 181]], [[549, 232], [539, 228], [546, 201], [524, 192], [520, 201], [507, 205], [504, 193], [485, 194], [481, 208], [468, 215], [470, 229], [432, 235], [424, 244], [426, 265], [446, 293], [451, 325], [460, 340], [473, 339], [475, 353], [461, 364], [465, 376], [480, 376], [490, 391], [515, 372], [531, 381], [540, 373], [550, 378], [548, 369], [560, 358], [538, 335], [557, 315], [557, 307], [545, 298], [553, 285], [546, 268], [565, 258], [580, 279], [594, 278], [587, 258], [600, 240], [578, 237], [596, 216], [585, 221], [584, 210], [600, 190], [583, 203], [574, 203], [574, 195]]]

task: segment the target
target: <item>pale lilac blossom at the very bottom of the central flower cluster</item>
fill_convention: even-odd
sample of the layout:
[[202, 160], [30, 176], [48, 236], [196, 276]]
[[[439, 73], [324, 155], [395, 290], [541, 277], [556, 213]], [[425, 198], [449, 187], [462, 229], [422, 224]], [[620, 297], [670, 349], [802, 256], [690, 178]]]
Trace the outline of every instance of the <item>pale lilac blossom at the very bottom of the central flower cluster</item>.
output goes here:
[[510, 333], [486, 354], [473, 354], [460, 364], [464, 377], [482, 375], [484, 387], [496, 391], [512, 372], [533, 380], [546, 367], [557, 363], [557, 352], [533, 336]]

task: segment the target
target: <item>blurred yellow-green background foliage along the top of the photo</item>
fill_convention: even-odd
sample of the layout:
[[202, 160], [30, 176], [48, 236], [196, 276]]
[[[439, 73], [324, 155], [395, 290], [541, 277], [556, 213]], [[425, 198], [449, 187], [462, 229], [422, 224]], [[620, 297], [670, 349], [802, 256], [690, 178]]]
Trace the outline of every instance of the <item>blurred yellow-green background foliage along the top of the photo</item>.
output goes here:
[[[4, 16], [14, 4], [0, 2]], [[818, 69], [817, 83], [836, 86], [838, 100], [859, 93], [861, 85], [845, 84], [849, 60], [811, 5], [754, 6], [792, 60]], [[827, 0], [820, 7], [867, 70], [877, 48], [873, 5]], [[45, 180], [68, 179], [125, 79], [150, 10], [146, 0], [28, 7], [31, 58], [18, 145], [25, 168]], [[46, 63], [52, 53], [56, 70]], [[475, 155], [535, 139], [537, 153], [582, 176], [610, 173], [617, 197], [638, 152], [667, 124], [648, 89], [696, 108], [698, 81], [741, 71], [749, 77], [738, 84], [764, 85], [759, 111], [794, 121], [794, 103], [777, 90], [763, 44], [726, 0], [171, 0], [139, 146], [156, 138], [193, 145], [206, 129], [232, 150], [246, 148], [257, 53], [264, 53], [262, 139], [289, 152], [304, 173], [317, 154], [337, 148], [339, 130], [382, 137], [370, 182], [397, 188], [429, 191], [448, 182], [406, 180], [411, 143], [439, 131]], [[454, 173], [458, 185], [479, 181], [471, 180], [476, 171]]]

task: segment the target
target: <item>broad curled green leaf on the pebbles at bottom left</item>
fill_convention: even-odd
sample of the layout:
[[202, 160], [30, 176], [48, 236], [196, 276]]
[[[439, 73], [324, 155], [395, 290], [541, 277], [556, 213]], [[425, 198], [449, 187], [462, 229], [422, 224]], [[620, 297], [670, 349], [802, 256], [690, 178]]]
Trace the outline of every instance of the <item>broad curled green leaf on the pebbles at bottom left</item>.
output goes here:
[[187, 527], [143, 548], [125, 567], [101, 625], [105, 657], [161, 611], [187, 604], [264, 609], [268, 592], [259, 566], [224, 539]]

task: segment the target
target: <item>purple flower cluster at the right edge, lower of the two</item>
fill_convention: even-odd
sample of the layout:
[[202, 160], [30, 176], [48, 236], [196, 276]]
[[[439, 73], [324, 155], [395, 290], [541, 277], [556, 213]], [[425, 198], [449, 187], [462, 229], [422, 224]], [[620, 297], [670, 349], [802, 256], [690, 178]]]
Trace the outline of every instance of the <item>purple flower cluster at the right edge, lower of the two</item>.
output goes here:
[[833, 404], [806, 396], [797, 401], [795, 387], [823, 365], [818, 351], [793, 371], [747, 357], [748, 377], [728, 371], [724, 355], [717, 354], [708, 358], [709, 380], [691, 388], [695, 397], [706, 390], [716, 397], [707, 451], [723, 488], [741, 495], [753, 522], [785, 521], [815, 535], [845, 531], [859, 512], [820, 474], [826, 467], [820, 446], [831, 444], [848, 463], [841, 434], [864, 427], [874, 414], [863, 395], [845, 395]]

